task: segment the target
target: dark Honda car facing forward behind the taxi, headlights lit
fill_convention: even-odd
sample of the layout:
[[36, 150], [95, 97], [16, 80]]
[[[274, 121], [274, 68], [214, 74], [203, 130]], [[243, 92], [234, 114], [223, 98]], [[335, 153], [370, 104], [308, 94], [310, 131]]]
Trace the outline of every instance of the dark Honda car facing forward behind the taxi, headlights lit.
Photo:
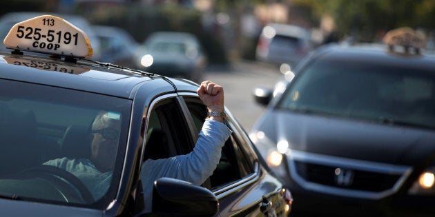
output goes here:
[[249, 135], [294, 216], [434, 216], [435, 57], [391, 48], [327, 45], [258, 92]]

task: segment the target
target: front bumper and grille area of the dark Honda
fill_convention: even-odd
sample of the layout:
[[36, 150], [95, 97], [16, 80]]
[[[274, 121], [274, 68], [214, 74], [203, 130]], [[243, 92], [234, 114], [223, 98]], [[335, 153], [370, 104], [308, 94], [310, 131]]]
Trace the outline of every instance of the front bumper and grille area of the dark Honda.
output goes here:
[[[295, 216], [434, 216], [435, 196], [407, 194], [411, 167], [293, 152], [282, 180], [293, 194]], [[349, 183], [337, 169], [351, 170]], [[341, 177], [343, 178], [343, 177]], [[347, 178], [347, 177], [345, 177]]]

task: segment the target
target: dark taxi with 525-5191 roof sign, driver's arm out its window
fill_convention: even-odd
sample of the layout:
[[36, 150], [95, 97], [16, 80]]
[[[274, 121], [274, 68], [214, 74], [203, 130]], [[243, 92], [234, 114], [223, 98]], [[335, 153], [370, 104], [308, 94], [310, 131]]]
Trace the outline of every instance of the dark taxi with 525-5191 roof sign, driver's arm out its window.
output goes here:
[[[142, 163], [193, 150], [206, 118], [198, 85], [93, 61], [86, 32], [52, 15], [15, 24], [3, 43], [10, 52], [0, 54], [1, 216], [289, 215], [290, 192], [227, 109], [232, 133], [213, 175], [202, 186], [155, 180], [145, 213]], [[120, 127], [92, 131], [102, 111]], [[50, 165], [86, 163], [93, 134], [115, 141], [101, 151], [116, 151], [106, 159], [113, 167], [83, 178]], [[95, 183], [101, 177], [108, 185]]]

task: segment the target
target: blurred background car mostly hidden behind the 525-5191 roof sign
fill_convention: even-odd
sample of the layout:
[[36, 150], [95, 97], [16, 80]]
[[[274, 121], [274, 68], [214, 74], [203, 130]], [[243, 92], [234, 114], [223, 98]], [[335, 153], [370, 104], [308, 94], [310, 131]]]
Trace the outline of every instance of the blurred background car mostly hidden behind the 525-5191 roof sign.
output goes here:
[[[0, 39], [3, 41], [3, 39], [8, 34], [10, 28], [12, 28], [12, 25], [15, 25], [15, 23], [19, 23], [21, 21], [25, 21], [28, 19], [31, 19], [33, 17], [38, 17], [41, 15], [44, 15], [46, 13], [42, 12], [10, 12], [8, 14], [4, 14], [2, 17], [0, 17]], [[53, 16], [62, 17], [66, 19], [68, 22], [72, 23], [73, 25], [77, 26], [86, 34], [88, 35], [89, 40], [92, 42], [92, 48], [93, 48], [93, 54], [90, 56], [89, 59], [100, 61], [101, 58], [101, 50], [100, 45], [97, 36], [95, 35], [95, 32], [93, 28], [90, 27], [90, 23], [87, 19], [84, 17], [81, 17], [79, 15], [72, 15], [72, 14], [53, 14]], [[0, 51], [1, 52], [9, 52], [10, 49], [7, 49], [3, 43], [0, 45]]]

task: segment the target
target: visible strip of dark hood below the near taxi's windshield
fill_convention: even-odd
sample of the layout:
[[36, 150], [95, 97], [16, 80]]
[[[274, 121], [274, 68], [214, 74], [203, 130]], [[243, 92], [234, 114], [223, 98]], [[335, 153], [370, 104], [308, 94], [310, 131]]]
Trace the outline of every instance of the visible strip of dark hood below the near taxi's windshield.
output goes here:
[[104, 211], [22, 200], [0, 199], [1, 216], [104, 216]]

